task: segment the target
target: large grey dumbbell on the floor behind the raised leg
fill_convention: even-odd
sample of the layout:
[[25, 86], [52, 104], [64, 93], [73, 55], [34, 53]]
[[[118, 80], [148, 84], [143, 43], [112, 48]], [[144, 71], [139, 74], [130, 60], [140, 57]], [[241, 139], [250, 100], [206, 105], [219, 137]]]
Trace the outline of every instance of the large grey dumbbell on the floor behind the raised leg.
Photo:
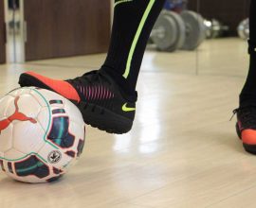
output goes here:
[[203, 23], [201, 15], [191, 10], [184, 10], [180, 14], [163, 10], [150, 39], [160, 51], [194, 50], [205, 40]]

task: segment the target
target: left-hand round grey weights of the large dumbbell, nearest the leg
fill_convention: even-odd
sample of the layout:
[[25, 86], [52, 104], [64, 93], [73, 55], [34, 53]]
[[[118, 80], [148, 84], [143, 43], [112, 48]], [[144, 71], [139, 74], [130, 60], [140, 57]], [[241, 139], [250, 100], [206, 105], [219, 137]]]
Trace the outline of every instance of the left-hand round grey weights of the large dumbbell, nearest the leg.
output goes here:
[[185, 25], [177, 13], [163, 10], [155, 23], [151, 40], [158, 50], [173, 52], [185, 42], [185, 31]]

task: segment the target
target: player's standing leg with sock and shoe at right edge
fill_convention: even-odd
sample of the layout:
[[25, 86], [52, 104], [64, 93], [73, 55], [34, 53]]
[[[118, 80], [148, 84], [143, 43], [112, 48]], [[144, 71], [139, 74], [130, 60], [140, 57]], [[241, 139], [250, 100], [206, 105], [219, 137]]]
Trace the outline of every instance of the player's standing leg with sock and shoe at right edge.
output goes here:
[[251, 0], [249, 15], [248, 53], [250, 56], [247, 81], [240, 95], [237, 113], [237, 132], [244, 147], [256, 154], [256, 1]]

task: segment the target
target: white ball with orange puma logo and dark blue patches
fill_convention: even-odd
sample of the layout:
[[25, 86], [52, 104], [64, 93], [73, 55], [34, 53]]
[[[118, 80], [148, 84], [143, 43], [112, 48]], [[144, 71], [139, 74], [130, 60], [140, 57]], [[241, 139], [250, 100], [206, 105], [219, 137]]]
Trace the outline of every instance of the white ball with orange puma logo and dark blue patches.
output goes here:
[[0, 167], [20, 182], [53, 182], [82, 154], [78, 108], [61, 95], [20, 88], [0, 99]]

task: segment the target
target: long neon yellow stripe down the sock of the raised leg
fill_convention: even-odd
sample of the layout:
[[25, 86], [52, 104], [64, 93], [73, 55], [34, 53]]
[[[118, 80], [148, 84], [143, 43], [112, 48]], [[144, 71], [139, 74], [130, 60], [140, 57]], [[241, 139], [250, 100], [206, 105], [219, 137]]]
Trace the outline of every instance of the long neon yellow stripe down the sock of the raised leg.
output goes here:
[[133, 56], [134, 56], [134, 53], [135, 53], [135, 49], [136, 49], [136, 45], [137, 45], [137, 41], [138, 41], [138, 38], [141, 34], [141, 31], [146, 23], [146, 20], [149, 16], [149, 13], [151, 11], [151, 9], [153, 8], [155, 4], [155, 0], [150, 0], [150, 3], [147, 7], [147, 9], [145, 10], [144, 14], [143, 14], [143, 17], [139, 23], [139, 26], [137, 28], [137, 33], [136, 33], [136, 36], [135, 36], [135, 39], [132, 43], [132, 47], [130, 49], [130, 52], [129, 52], [129, 56], [128, 56], [128, 60], [127, 60], [127, 63], [126, 63], [126, 69], [125, 69], [125, 72], [124, 74], [122, 75], [123, 78], [128, 78], [129, 74], [130, 74], [130, 70], [131, 70], [131, 62], [133, 60]]

